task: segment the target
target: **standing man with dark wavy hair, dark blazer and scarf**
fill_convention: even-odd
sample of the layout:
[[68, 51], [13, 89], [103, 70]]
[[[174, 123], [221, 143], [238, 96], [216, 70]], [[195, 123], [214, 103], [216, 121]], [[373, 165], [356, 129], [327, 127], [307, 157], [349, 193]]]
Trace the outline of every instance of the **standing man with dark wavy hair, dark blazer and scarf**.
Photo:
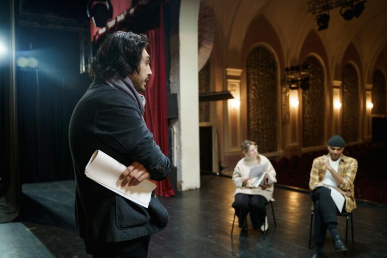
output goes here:
[[167, 224], [168, 213], [152, 193], [148, 208], [87, 178], [86, 164], [101, 150], [128, 165], [121, 186], [162, 180], [170, 172], [144, 118], [144, 92], [152, 75], [148, 38], [132, 32], [108, 36], [93, 58], [94, 82], [78, 102], [69, 141], [76, 177], [76, 218], [86, 251], [93, 257], [147, 257], [151, 234]]

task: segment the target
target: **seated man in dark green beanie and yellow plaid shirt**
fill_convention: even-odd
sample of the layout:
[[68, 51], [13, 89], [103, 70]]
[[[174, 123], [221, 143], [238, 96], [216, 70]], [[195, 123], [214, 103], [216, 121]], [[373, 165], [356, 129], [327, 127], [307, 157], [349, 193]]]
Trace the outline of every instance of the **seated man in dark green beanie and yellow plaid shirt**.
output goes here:
[[327, 229], [331, 233], [333, 247], [336, 251], [345, 251], [347, 246], [341, 240], [337, 231], [337, 215], [340, 214], [331, 197], [332, 186], [345, 198], [343, 212], [352, 212], [356, 208], [353, 180], [356, 176], [357, 161], [343, 155], [345, 141], [335, 135], [328, 140], [328, 155], [313, 160], [310, 171], [309, 187], [312, 191], [314, 204], [314, 231], [315, 242], [312, 257], [322, 254]]

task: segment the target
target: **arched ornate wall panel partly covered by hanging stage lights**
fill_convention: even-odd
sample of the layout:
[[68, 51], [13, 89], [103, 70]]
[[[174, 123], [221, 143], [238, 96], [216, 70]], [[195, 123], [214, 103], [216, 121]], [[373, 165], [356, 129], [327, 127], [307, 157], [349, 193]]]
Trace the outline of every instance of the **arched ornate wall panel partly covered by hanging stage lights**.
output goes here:
[[303, 147], [324, 144], [325, 94], [324, 68], [314, 56], [308, 56], [304, 64], [309, 64], [309, 89], [302, 92], [302, 143]]

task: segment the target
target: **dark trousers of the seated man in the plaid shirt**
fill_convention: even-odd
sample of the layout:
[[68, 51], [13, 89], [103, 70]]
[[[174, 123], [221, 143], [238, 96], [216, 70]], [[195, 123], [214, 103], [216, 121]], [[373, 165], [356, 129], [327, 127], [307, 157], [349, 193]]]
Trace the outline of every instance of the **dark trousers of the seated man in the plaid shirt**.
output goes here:
[[[331, 222], [337, 224], [336, 216], [340, 212], [331, 197], [331, 189], [327, 187], [314, 189], [312, 192], [312, 201], [314, 203], [314, 231], [312, 240], [324, 244], [327, 234], [327, 224]], [[345, 212], [345, 203], [343, 212]]]

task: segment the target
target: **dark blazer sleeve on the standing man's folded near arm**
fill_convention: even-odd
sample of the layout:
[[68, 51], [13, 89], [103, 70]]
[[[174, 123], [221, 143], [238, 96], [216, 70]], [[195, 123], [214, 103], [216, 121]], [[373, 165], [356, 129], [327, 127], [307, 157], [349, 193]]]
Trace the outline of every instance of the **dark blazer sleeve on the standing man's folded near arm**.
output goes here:
[[154, 180], [170, 172], [170, 161], [143, 123], [135, 102], [122, 93], [104, 96], [94, 117], [94, 133], [104, 144], [144, 165]]

